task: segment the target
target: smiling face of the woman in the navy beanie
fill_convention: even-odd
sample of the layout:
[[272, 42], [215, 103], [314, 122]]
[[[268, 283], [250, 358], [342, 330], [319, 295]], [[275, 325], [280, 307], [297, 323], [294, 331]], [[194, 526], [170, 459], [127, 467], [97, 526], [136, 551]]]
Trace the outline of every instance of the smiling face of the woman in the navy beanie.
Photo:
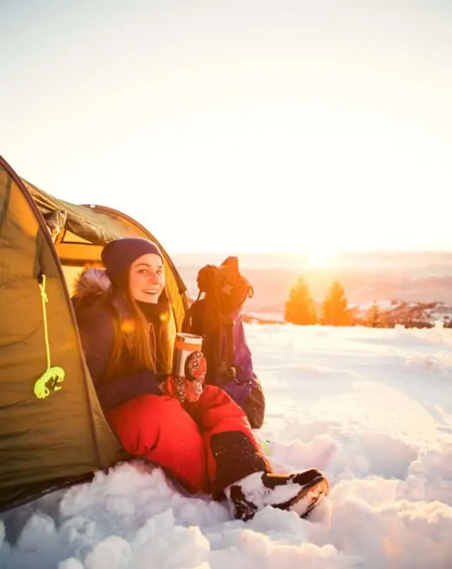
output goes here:
[[165, 287], [165, 275], [160, 255], [146, 253], [130, 268], [129, 289], [134, 300], [157, 304]]

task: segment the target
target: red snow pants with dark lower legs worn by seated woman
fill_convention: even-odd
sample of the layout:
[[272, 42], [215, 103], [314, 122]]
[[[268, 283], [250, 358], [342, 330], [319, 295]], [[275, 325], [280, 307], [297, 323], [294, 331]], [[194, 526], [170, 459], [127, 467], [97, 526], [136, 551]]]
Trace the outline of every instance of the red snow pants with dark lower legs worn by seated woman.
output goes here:
[[219, 467], [228, 471], [222, 486], [271, 471], [244, 411], [217, 386], [204, 386], [198, 401], [183, 405], [176, 398], [142, 395], [109, 411], [108, 418], [127, 452], [165, 467], [192, 493], [211, 493]]

